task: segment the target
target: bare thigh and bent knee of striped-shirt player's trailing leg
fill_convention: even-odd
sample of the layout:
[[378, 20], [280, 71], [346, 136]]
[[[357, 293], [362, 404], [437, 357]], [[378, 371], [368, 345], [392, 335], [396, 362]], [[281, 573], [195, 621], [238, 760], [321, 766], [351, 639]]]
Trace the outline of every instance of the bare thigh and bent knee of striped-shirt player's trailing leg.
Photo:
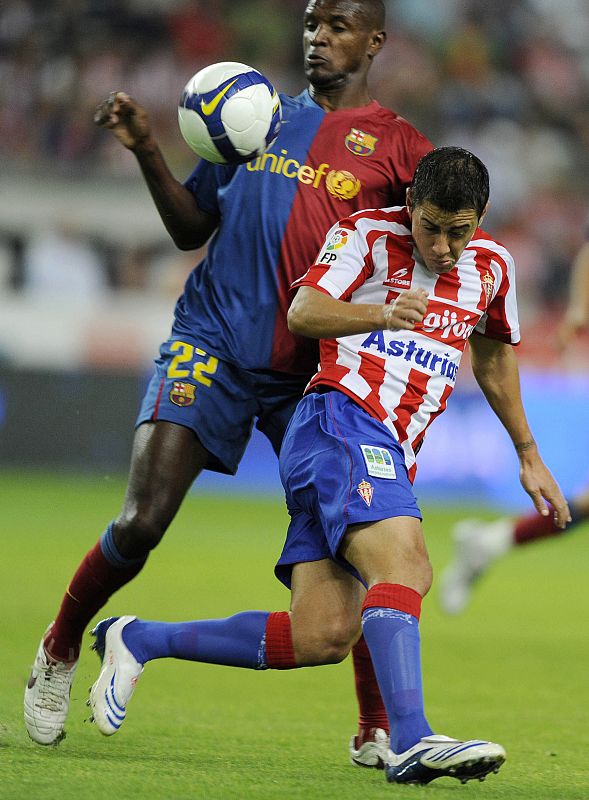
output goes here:
[[295, 564], [291, 625], [297, 660], [341, 661], [360, 636], [364, 586], [331, 559]]

